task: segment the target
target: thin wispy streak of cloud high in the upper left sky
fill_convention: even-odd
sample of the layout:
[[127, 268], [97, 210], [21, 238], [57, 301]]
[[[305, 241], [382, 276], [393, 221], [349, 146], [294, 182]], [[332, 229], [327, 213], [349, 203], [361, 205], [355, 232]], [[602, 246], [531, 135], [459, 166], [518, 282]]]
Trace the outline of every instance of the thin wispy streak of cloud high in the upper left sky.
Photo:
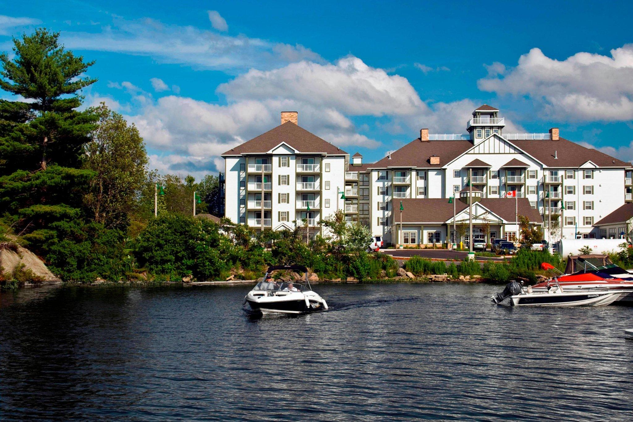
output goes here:
[[289, 46], [246, 35], [230, 37], [192, 26], [165, 25], [150, 18], [125, 20], [113, 16], [111, 23], [101, 25], [101, 32], [68, 30], [62, 32], [61, 41], [68, 49], [150, 56], [162, 63], [225, 71], [273, 68], [302, 59], [323, 60], [301, 45]]

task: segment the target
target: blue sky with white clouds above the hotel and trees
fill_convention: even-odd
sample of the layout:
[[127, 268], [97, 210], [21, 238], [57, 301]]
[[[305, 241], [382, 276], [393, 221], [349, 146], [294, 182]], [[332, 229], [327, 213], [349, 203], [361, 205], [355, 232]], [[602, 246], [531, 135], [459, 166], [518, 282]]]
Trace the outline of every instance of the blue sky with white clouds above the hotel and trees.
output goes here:
[[[464, 133], [482, 103], [506, 132], [633, 159], [633, 2], [0, 1], [0, 50], [44, 26], [95, 60], [88, 104], [141, 130], [161, 172], [201, 177], [279, 124], [366, 161]], [[0, 97], [11, 97], [0, 92]]]

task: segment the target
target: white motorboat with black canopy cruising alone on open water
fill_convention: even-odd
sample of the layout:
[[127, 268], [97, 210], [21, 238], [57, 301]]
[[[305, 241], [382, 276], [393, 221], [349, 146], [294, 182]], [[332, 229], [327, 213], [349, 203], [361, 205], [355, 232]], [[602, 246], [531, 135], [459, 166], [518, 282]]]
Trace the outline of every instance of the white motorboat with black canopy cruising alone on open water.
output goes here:
[[[273, 271], [301, 271], [305, 273], [305, 282], [275, 282]], [[328, 309], [327, 302], [313, 292], [308, 280], [308, 269], [301, 265], [275, 265], [268, 267], [263, 281], [244, 297], [253, 311], [262, 313], [302, 314]]]

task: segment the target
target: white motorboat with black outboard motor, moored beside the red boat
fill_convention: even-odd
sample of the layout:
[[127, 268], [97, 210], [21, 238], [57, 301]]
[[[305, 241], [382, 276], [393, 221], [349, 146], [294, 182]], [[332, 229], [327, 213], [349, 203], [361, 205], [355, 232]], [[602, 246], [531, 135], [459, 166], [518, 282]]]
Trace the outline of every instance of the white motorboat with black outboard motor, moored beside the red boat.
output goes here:
[[501, 302], [510, 298], [512, 306], [606, 306], [617, 301], [627, 290], [619, 289], [577, 289], [563, 290], [556, 278], [556, 288], [534, 291], [532, 287], [523, 288], [518, 282], [510, 282], [501, 293], [492, 296], [492, 302]]

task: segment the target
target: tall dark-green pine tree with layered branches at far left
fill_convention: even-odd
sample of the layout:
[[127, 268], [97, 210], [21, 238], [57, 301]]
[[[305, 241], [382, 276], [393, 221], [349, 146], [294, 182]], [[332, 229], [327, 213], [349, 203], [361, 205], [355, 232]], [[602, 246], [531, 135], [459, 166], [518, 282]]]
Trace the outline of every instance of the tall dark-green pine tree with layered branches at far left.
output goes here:
[[0, 209], [36, 243], [53, 235], [51, 223], [80, 218], [93, 175], [82, 170], [82, 151], [97, 116], [77, 108], [79, 91], [96, 82], [82, 77], [94, 62], [58, 38], [40, 28], [13, 39], [13, 60], [0, 54], [0, 89], [22, 97], [0, 101]]

